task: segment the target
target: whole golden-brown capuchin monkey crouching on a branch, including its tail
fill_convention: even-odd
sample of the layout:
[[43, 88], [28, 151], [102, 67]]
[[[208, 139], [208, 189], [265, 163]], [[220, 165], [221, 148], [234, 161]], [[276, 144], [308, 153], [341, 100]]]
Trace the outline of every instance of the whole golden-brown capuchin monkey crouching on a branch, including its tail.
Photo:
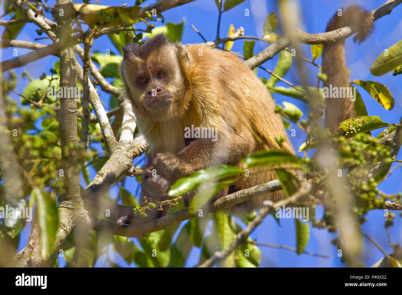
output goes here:
[[[352, 24], [354, 31], [360, 30], [355, 39], [363, 41], [372, 28], [372, 18], [370, 22], [367, 15], [359, 6], [352, 6], [343, 16], [335, 15], [327, 31]], [[236, 53], [204, 44], [172, 43], [160, 34], [139, 44], [128, 43], [123, 54], [120, 74], [125, 97], [149, 144], [142, 196], [153, 201], [170, 199], [167, 192], [178, 178], [217, 164], [242, 167], [242, 158], [265, 147], [294, 153], [271, 94]], [[324, 45], [322, 59], [326, 83], [349, 87], [344, 40]], [[353, 102], [342, 105], [348, 110], [345, 114], [337, 113], [343, 112], [338, 103], [336, 100], [330, 105], [332, 110], [327, 110], [335, 124], [345, 116], [353, 117]], [[210, 130], [210, 136], [188, 132], [197, 128]], [[286, 140], [279, 145], [277, 136]], [[252, 172], [217, 197], [276, 179], [275, 171]], [[253, 210], [264, 200], [275, 202], [283, 197], [283, 191], [271, 192], [237, 204], [235, 209]], [[185, 204], [188, 202], [185, 199]], [[158, 218], [167, 209], [146, 219]], [[133, 212], [127, 212], [117, 225], [132, 218]]]

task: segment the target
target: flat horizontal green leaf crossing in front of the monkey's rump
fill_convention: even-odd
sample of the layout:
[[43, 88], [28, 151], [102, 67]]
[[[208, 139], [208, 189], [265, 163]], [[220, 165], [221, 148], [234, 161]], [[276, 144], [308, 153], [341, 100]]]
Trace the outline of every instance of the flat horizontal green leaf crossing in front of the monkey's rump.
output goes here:
[[244, 158], [242, 163], [244, 164], [245, 168], [270, 167], [287, 163], [299, 166], [301, 164], [301, 159], [291, 153], [288, 153], [287, 151], [269, 150], [253, 153], [252, 155]]

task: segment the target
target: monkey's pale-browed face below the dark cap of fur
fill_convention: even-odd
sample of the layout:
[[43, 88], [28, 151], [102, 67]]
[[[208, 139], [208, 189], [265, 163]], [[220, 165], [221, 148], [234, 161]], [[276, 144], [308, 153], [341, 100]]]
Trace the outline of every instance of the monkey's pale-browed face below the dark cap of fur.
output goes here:
[[125, 56], [121, 73], [137, 113], [158, 121], [177, 116], [184, 79], [176, 51], [163, 46], [145, 58]]

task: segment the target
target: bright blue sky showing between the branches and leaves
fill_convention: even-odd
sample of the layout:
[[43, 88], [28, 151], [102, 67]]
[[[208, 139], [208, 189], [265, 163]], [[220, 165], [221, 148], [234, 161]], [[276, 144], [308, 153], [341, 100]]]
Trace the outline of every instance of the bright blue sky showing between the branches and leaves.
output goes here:
[[[106, 1], [98, 0], [100, 4], [105, 5], [120, 5], [126, 3], [126, 1]], [[326, 22], [334, 14], [334, 12], [340, 7], [346, 7], [350, 4], [361, 4], [368, 10], [373, 10], [385, 2], [385, 0], [362, 0], [362, 1], [327, 1], [327, 0], [303, 0], [294, 1], [298, 4], [299, 14], [301, 16], [302, 24], [301, 29], [309, 33], [321, 33], [324, 32], [326, 27]], [[152, 1], [144, 2], [143, 5], [152, 3]], [[52, 5], [53, 2], [48, 3]], [[129, 3], [131, 5], [131, 3]], [[245, 16], [245, 9], [250, 10], [250, 16]], [[228, 32], [230, 24], [234, 24], [236, 28], [242, 26], [245, 30], [245, 35], [249, 36], [262, 36], [262, 28], [265, 18], [268, 14], [274, 11], [278, 14], [278, 9], [276, 1], [273, 0], [246, 0], [242, 4], [236, 6], [229, 12], [225, 12], [222, 15], [221, 21], [221, 37], [225, 36]], [[185, 29], [183, 34], [183, 43], [199, 43], [202, 42], [199, 35], [191, 28], [191, 24], [201, 31], [203, 36], [208, 41], [213, 41], [216, 36], [216, 25], [217, 25], [217, 8], [213, 0], [197, 0], [185, 6], [174, 8], [163, 13], [165, 21], [169, 22], [181, 22], [185, 19]], [[375, 31], [370, 39], [361, 45], [355, 45], [351, 38], [346, 41], [346, 63], [348, 69], [351, 70], [350, 78], [351, 81], [355, 79], [361, 80], [373, 80], [378, 81], [386, 85], [391, 93], [394, 95], [395, 106], [391, 111], [385, 110], [381, 107], [367, 92], [363, 89], [358, 89], [362, 95], [363, 101], [367, 107], [367, 112], [369, 115], [381, 116], [381, 118], [388, 122], [398, 123], [400, 116], [402, 114], [402, 76], [397, 77], [392, 76], [392, 73], [380, 77], [374, 77], [370, 74], [369, 68], [373, 61], [383, 53], [384, 49], [394, 45], [396, 42], [400, 41], [402, 36], [402, 6], [398, 6], [394, 11], [387, 16], [377, 20], [375, 22]], [[279, 20], [280, 21], [280, 20]], [[155, 24], [158, 26], [161, 24]], [[37, 37], [35, 33], [36, 27], [33, 24], [27, 24], [23, 32], [18, 35], [18, 40], [32, 41], [35, 42], [34, 38]], [[279, 36], [281, 36], [280, 28], [275, 31]], [[43, 35], [44, 36], [44, 35]], [[42, 37], [43, 37], [42, 36]], [[43, 44], [49, 44], [49, 41], [43, 40], [39, 41]], [[254, 54], [262, 51], [267, 46], [267, 43], [256, 41], [254, 47]], [[100, 52], [105, 52], [106, 49], [111, 49], [117, 52], [113, 44], [109, 39], [104, 36], [94, 41], [93, 50], [98, 50]], [[303, 55], [311, 59], [310, 45], [301, 45], [303, 50]], [[232, 48], [232, 51], [243, 53], [243, 41], [236, 41]], [[18, 49], [18, 55], [29, 52], [29, 50]], [[2, 50], [2, 60], [6, 60], [12, 57], [12, 49]], [[26, 69], [34, 78], [38, 78], [44, 71], [47, 71], [53, 67], [56, 57], [46, 57], [40, 59], [33, 63], [30, 63], [24, 67], [15, 69], [18, 75]], [[266, 62], [263, 66], [273, 70], [277, 57], [273, 60]], [[321, 58], [319, 58], [316, 63], [321, 64]], [[309, 63], [304, 63], [306, 69], [308, 69], [310, 77], [316, 77], [318, 68], [310, 65]], [[262, 70], [258, 71], [260, 77], [269, 78], [269, 74], [263, 73]], [[296, 72], [292, 68], [285, 79], [297, 84]], [[316, 80], [312, 80], [316, 84]], [[27, 80], [19, 79], [17, 85], [17, 91], [22, 91], [27, 83]], [[313, 85], [315, 85], [313, 84]], [[287, 85], [281, 81], [277, 84], [279, 86]], [[100, 91], [100, 90], [99, 90]], [[13, 96], [19, 101], [19, 98]], [[275, 100], [278, 104], [282, 101], [291, 102], [297, 105], [305, 114], [308, 114], [305, 105], [293, 98], [284, 97], [280, 95], [274, 95]], [[109, 95], [103, 94], [101, 99], [105, 102], [106, 106], [109, 105]], [[295, 150], [301, 143], [306, 140], [306, 136], [303, 132], [299, 131], [296, 126], [292, 126], [296, 129], [296, 136], [290, 137]], [[372, 132], [373, 136], [379, 134], [381, 130], [375, 130]], [[300, 153], [301, 154], [301, 153]], [[398, 158], [398, 157], [397, 157]], [[399, 159], [399, 158], [398, 158]], [[141, 159], [135, 159], [134, 163], [138, 163]], [[396, 165], [396, 164], [394, 164]], [[393, 166], [394, 167], [394, 166]], [[96, 171], [91, 171], [91, 177], [94, 176]], [[398, 168], [388, 179], [383, 181], [379, 189], [385, 193], [394, 194], [402, 190], [402, 183], [400, 181], [402, 177], [401, 168]], [[84, 183], [82, 183], [84, 185]], [[131, 192], [135, 192], [137, 184], [134, 183], [132, 179], [126, 181], [126, 187]], [[116, 191], [111, 190], [111, 195], [115, 194]], [[322, 208], [317, 208], [316, 218], [320, 218], [323, 214]], [[396, 212], [397, 218], [395, 220], [394, 226], [390, 228], [392, 242], [402, 244], [402, 222], [401, 218]], [[310, 226], [311, 228], [311, 226]], [[384, 216], [383, 212], [380, 210], [375, 210], [367, 214], [367, 222], [363, 224], [362, 229], [371, 238], [373, 238], [386, 252], [392, 252], [392, 248], [388, 245], [388, 237], [384, 229]], [[29, 227], [24, 230], [23, 239], [21, 241], [20, 249], [25, 245], [27, 234], [29, 233]], [[281, 244], [286, 246], [295, 247], [295, 228], [293, 219], [281, 219], [281, 226], [278, 226], [277, 222], [268, 216], [264, 222], [258, 227], [252, 234], [251, 237], [256, 239], [258, 242]], [[273, 249], [267, 247], [260, 247], [262, 253], [261, 266], [262, 267], [342, 267], [344, 266], [340, 262], [340, 258], [336, 256], [337, 249], [335, 246], [330, 244], [330, 241], [335, 238], [334, 234], [328, 233], [327, 230], [318, 230], [316, 228], [311, 228], [310, 241], [306, 250], [329, 255], [330, 259], [316, 258], [308, 255], [299, 255], [295, 252]], [[366, 266], [370, 266], [379, 260], [384, 255], [368, 240], [364, 240], [363, 251], [361, 255], [361, 260], [365, 262]], [[186, 266], [193, 266], [197, 263], [199, 258], [199, 249], [194, 248], [191, 252], [190, 258]], [[115, 261], [121, 262], [119, 257], [114, 258]], [[122, 265], [125, 262], [122, 263]], [[99, 261], [97, 266], [103, 266], [103, 262]]]

